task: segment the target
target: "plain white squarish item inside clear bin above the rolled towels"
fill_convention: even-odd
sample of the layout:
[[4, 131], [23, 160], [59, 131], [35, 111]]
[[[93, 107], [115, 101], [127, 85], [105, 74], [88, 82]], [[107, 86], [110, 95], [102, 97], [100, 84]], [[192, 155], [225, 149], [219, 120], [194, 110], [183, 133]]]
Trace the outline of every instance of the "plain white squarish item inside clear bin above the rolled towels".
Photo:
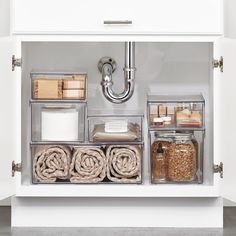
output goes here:
[[43, 109], [41, 138], [47, 141], [78, 140], [78, 111], [76, 109]]

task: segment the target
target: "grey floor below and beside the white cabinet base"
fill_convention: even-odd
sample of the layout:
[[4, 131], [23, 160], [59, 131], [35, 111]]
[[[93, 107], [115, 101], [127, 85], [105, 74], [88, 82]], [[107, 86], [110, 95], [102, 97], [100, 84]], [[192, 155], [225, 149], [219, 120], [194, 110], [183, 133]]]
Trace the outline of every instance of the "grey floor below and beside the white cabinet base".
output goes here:
[[[223, 229], [175, 228], [10, 228], [10, 207], [0, 207], [1, 236], [233, 236], [236, 235], [236, 207], [224, 208]], [[209, 219], [210, 220], [210, 219]]]

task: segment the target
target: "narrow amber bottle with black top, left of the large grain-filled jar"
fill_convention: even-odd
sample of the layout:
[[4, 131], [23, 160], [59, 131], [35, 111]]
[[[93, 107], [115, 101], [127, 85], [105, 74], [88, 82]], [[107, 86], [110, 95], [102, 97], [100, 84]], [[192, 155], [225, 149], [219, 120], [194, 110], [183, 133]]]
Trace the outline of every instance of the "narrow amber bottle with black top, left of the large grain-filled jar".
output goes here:
[[[152, 182], [166, 182], [167, 178], [167, 160], [169, 149], [173, 139], [167, 133], [155, 133], [155, 139], [151, 146], [152, 155]], [[160, 151], [162, 149], [162, 151]], [[159, 151], [158, 151], [159, 150]]]

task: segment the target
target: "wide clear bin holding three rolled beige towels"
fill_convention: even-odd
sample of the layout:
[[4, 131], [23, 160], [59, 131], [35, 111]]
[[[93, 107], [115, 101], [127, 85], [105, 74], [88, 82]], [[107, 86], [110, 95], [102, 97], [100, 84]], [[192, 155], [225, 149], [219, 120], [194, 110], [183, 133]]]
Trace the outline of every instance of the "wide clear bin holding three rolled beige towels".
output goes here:
[[142, 145], [31, 144], [35, 184], [141, 184]]

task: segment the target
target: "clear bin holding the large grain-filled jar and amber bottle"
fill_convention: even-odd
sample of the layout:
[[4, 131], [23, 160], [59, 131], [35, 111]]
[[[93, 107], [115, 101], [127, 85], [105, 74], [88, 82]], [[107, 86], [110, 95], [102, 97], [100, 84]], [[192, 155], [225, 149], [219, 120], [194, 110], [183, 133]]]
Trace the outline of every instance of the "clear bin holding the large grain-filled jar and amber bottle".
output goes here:
[[204, 131], [150, 131], [151, 182], [202, 183]]

